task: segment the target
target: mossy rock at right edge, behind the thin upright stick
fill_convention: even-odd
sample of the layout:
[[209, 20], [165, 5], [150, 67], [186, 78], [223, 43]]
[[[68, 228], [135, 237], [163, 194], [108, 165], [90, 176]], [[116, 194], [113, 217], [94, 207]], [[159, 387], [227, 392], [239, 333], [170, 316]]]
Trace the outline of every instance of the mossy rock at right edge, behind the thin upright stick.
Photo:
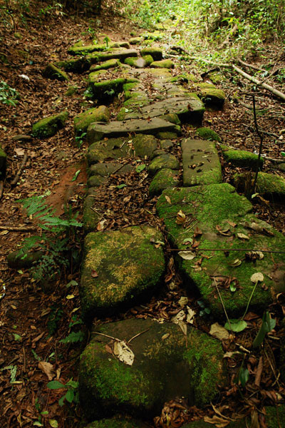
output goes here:
[[[244, 189], [247, 183], [246, 174], [234, 175], [234, 185], [238, 189]], [[252, 182], [254, 174], [252, 173]], [[269, 173], [258, 173], [256, 192], [275, 202], [284, 203], [285, 200], [285, 179], [279, 175]]]

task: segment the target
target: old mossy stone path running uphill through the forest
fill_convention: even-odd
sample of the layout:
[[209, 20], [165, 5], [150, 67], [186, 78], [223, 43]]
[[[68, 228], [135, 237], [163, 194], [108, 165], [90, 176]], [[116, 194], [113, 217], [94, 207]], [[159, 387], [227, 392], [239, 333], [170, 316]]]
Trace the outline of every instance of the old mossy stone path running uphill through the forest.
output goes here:
[[[130, 44], [136, 46], [140, 40]], [[49, 66], [46, 73], [62, 79], [63, 72], [90, 69], [86, 93], [98, 101], [97, 108], [74, 118], [76, 134], [87, 133], [90, 144], [80, 285], [84, 320], [90, 325], [94, 317], [118, 315], [147, 300], [160, 290], [165, 274], [159, 230], [150, 225], [103, 230], [96, 195], [112, 174], [147, 170], [152, 178], [149, 197], [159, 196], [157, 214], [165, 222], [167, 238], [173, 248], [186, 250], [176, 253], [185, 278], [180, 319], [134, 317], [100, 325], [91, 332], [81, 357], [80, 397], [86, 423], [91, 422], [88, 427], [142, 427], [138, 419], [110, 417], [119, 413], [151, 419], [175, 397], [203, 407], [227, 384], [222, 344], [192, 326], [186, 291], [199, 292], [214, 320], [223, 322], [222, 302], [230, 317], [241, 317], [254, 287], [252, 274], [261, 271], [264, 282], [257, 284], [251, 307], [264, 310], [271, 302], [270, 288], [284, 290], [285, 281], [281, 255], [273, 260], [262, 250], [285, 251], [285, 238], [258, 220], [251, 203], [232, 185], [222, 183], [217, 148], [227, 161], [249, 168], [254, 168], [257, 156], [217, 146], [220, 138], [208, 128], [197, 128], [199, 140], [181, 141], [183, 123], [199, 127], [207, 106], [222, 108], [222, 91], [188, 74], [173, 76], [175, 65], [163, 59], [159, 46], [130, 49], [124, 41], [105, 51], [102, 45], [77, 44], [68, 52], [73, 58]], [[123, 105], [110, 121], [105, 104], [119, 93], [124, 95]], [[45, 138], [64, 126], [66, 117], [61, 113], [44, 119], [35, 132]], [[177, 146], [182, 160], [174, 150]], [[266, 179], [266, 174], [260, 175], [260, 188]], [[274, 185], [280, 195], [284, 182]], [[236, 253], [232, 248], [259, 253]], [[197, 426], [211, 424], [194, 422], [185, 428]]]

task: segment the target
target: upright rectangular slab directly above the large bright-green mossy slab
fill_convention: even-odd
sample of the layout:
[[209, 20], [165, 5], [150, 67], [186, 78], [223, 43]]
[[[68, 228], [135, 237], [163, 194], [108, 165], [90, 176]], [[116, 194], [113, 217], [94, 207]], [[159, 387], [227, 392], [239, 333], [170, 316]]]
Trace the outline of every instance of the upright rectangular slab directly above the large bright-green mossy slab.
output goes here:
[[222, 183], [222, 168], [214, 143], [185, 138], [181, 149], [183, 185]]

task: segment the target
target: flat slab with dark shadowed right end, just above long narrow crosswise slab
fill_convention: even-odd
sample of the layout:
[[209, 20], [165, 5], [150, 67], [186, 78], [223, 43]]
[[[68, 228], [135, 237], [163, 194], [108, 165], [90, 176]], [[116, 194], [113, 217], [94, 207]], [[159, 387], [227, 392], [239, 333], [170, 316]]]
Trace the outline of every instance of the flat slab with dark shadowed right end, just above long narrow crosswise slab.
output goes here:
[[[193, 96], [177, 96], [165, 98], [148, 106], [138, 109], [137, 118], [155, 118], [167, 114], [175, 114], [183, 123], [201, 122], [204, 114], [204, 104], [193, 94]], [[130, 113], [125, 116], [128, 119]]]

